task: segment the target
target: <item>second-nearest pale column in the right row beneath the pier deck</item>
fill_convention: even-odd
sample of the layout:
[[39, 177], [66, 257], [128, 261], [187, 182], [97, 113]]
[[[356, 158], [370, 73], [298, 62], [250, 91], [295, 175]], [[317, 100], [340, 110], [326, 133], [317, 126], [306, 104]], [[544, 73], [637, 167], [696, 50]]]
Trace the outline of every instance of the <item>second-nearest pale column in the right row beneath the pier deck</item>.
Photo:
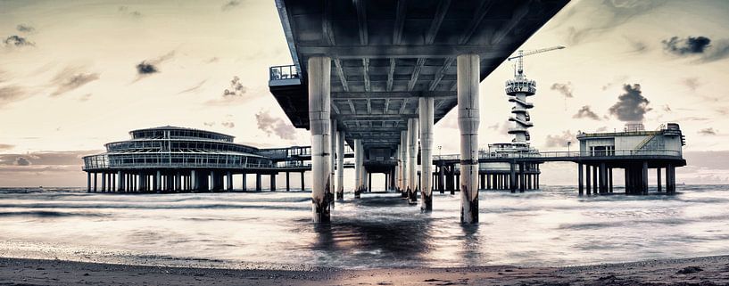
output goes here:
[[433, 97], [420, 97], [420, 209], [433, 210]]

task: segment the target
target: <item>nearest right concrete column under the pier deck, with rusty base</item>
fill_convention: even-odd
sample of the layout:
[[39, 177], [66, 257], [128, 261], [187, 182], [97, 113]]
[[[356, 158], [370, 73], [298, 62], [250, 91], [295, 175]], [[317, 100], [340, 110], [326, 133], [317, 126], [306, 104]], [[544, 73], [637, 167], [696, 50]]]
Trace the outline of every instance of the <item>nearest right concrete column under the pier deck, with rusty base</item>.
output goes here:
[[478, 222], [478, 84], [477, 54], [458, 56], [458, 126], [460, 129], [460, 221]]

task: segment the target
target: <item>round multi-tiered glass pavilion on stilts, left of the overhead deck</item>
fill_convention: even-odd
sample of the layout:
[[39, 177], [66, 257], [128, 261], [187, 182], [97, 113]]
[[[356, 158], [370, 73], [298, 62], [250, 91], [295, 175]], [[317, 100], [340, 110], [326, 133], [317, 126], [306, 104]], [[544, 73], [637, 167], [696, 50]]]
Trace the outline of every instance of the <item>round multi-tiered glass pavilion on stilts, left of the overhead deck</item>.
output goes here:
[[[105, 144], [106, 152], [84, 157], [88, 192], [229, 192], [234, 178], [241, 191], [262, 191], [268, 176], [270, 191], [276, 191], [276, 176], [291, 174], [301, 179], [311, 171], [311, 147], [259, 149], [233, 143], [234, 136], [182, 128], [154, 127], [129, 132], [130, 140]], [[342, 152], [353, 158], [352, 152]], [[353, 168], [343, 164], [343, 168]]]

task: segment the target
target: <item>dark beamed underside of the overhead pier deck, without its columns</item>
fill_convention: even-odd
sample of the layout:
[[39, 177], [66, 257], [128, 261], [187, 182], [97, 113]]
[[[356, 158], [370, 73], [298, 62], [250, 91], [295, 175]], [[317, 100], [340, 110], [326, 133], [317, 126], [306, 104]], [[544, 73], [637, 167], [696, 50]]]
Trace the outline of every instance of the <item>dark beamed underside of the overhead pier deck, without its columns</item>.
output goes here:
[[[455, 107], [457, 55], [479, 54], [483, 80], [567, 2], [277, 0], [277, 6], [303, 85], [311, 56], [332, 58], [332, 117], [347, 141], [393, 148], [407, 118], [418, 117], [419, 96], [435, 97], [435, 122]], [[289, 118], [308, 122], [295, 109], [308, 107], [285, 108]]]

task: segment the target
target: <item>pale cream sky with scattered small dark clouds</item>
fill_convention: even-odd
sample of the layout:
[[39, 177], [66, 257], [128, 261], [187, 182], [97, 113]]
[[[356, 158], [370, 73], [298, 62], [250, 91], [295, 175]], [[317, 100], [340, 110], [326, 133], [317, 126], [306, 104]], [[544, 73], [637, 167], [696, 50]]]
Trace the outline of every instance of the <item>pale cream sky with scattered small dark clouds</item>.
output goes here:
[[[537, 81], [532, 144], [566, 150], [579, 131], [679, 123], [686, 184], [729, 184], [729, 1], [573, 0], [522, 49]], [[258, 147], [308, 145], [268, 90], [291, 63], [273, 1], [0, 0], [0, 186], [82, 186], [81, 157], [128, 131], [177, 126]], [[479, 145], [509, 142], [504, 62], [480, 85]], [[435, 146], [458, 153], [456, 110]], [[575, 184], [549, 163], [544, 184]], [[351, 177], [351, 176], [350, 176]], [[281, 185], [281, 184], [279, 184]]]

